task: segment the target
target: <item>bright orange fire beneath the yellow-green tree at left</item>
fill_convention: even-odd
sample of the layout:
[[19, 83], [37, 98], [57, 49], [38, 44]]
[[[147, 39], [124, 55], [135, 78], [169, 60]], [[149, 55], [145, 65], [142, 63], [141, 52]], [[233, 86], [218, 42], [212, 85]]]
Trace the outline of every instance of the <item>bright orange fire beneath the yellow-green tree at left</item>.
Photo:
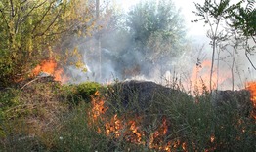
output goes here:
[[41, 61], [41, 63], [32, 70], [31, 75], [37, 76], [40, 72], [45, 72], [54, 76], [54, 80], [56, 81], [66, 82], [68, 80], [64, 75], [64, 69], [58, 67], [54, 58]]

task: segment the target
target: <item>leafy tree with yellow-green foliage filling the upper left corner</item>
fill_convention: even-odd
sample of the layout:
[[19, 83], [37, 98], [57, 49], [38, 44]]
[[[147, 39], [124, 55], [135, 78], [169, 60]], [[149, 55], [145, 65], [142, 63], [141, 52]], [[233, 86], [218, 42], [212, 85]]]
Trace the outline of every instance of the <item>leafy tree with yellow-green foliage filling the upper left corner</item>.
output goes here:
[[21, 80], [41, 59], [56, 56], [64, 35], [89, 29], [88, 5], [80, 0], [0, 1], [0, 84]]

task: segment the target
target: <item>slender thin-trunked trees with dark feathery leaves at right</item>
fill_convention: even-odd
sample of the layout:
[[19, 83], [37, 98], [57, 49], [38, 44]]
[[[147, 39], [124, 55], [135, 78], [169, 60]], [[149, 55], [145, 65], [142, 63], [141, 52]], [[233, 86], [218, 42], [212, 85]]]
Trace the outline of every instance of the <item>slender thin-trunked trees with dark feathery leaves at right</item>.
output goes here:
[[[230, 0], [205, 0], [204, 5], [194, 3], [196, 10], [193, 13], [199, 17], [199, 19], [193, 20], [197, 22], [203, 20], [205, 24], [209, 25], [210, 30], [207, 32], [207, 36], [212, 40], [212, 65], [210, 73], [210, 91], [212, 90], [212, 74], [215, 59], [215, 52], [217, 48], [222, 47], [222, 43], [230, 40], [235, 40], [233, 48], [235, 50], [232, 55], [233, 61], [231, 65], [233, 89], [234, 89], [234, 66], [235, 66], [235, 54], [238, 45], [243, 40], [243, 49], [245, 49], [245, 55], [250, 61], [251, 65], [255, 68], [252, 61], [248, 57], [247, 53], [252, 52], [255, 49], [255, 45], [250, 47], [248, 44], [249, 37], [255, 42], [256, 35], [256, 12], [255, 1], [253, 0], [241, 0], [238, 3], [231, 4]], [[242, 7], [245, 5], [245, 7]], [[192, 22], [193, 22], [192, 21]], [[220, 24], [223, 23], [225, 28], [220, 28]], [[225, 30], [224, 30], [225, 29]], [[232, 35], [231, 35], [232, 33]], [[238, 36], [237, 36], [238, 34]], [[239, 37], [239, 38], [237, 38]], [[226, 50], [226, 49], [223, 49]], [[219, 62], [219, 61], [218, 61]], [[256, 69], [256, 68], [255, 68]]]

